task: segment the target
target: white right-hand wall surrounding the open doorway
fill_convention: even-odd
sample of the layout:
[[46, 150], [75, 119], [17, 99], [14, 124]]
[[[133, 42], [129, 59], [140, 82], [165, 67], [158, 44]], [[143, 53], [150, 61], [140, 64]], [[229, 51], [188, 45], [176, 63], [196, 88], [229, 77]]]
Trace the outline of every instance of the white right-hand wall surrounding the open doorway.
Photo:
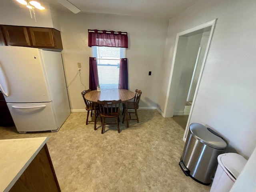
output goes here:
[[164, 111], [176, 34], [217, 18], [190, 123], [216, 130], [246, 158], [256, 146], [255, 10], [255, 0], [201, 0], [172, 18], [158, 100]]

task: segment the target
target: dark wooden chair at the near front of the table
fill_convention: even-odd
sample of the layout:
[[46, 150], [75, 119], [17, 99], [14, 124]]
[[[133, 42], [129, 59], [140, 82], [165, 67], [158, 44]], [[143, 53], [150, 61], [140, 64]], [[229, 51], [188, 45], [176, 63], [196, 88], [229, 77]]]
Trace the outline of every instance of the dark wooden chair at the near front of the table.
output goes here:
[[[106, 124], [116, 124], [118, 133], [119, 130], [119, 115], [120, 115], [120, 103], [121, 100], [117, 101], [100, 101], [98, 100], [100, 108], [100, 117], [102, 118], [102, 130], [101, 134], [104, 133], [104, 126]], [[105, 123], [105, 118], [116, 118], [116, 123]]]

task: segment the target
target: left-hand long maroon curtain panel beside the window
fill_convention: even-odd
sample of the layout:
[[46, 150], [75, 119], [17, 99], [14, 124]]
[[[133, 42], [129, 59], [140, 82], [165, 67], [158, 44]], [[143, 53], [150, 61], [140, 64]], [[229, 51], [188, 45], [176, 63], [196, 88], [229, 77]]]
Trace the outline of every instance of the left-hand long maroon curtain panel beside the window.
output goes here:
[[89, 89], [96, 90], [99, 84], [97, 60], [94, 57], [89, 58]]

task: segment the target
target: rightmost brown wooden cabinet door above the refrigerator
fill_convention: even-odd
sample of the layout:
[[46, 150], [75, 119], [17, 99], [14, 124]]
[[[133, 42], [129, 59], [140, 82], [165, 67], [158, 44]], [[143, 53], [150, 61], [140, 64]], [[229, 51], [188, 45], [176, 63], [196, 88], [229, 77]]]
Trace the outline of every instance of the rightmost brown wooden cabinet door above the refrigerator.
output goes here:
[[54, 36], [51, 28], [28, 27], [32, 46], [54, 48]]

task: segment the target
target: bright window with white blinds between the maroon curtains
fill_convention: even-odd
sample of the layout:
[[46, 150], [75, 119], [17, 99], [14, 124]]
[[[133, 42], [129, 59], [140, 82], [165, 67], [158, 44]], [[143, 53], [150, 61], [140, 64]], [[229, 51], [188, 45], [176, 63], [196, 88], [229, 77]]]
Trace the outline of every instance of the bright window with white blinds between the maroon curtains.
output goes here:
[[125, 51], [125, 48], [92, 46], [102, 89], [118, 89], [120, 58], [125, 58]]

